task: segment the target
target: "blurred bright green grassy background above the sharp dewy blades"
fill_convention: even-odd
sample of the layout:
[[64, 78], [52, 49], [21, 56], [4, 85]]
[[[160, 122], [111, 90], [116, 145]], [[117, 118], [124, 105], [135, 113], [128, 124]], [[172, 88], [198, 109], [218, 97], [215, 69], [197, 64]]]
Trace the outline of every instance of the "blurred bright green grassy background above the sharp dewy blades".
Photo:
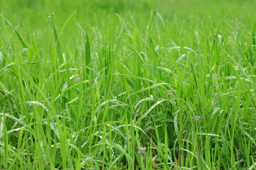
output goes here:
[[218, 19], [230, 10], [232, 16], [228, 17], [243, 17], [254, 12], [255, 6], [256, 0], [0, 0], [0, 13], [14, 26], [24, 24], [41, 29], [48, 25], [52, 12], [58, 26], [77, 10], [76, 22], [95, 26], [97, 18], [100, 27], [108, 22], [108, 16], [111, 19], [118, 13], [125, 17], [130, 10], [135, 21], [144, 26], [151, 9], [158, 11], [164, 20], [172, 20], [174, 15], [186, 20], [208, 16]]

